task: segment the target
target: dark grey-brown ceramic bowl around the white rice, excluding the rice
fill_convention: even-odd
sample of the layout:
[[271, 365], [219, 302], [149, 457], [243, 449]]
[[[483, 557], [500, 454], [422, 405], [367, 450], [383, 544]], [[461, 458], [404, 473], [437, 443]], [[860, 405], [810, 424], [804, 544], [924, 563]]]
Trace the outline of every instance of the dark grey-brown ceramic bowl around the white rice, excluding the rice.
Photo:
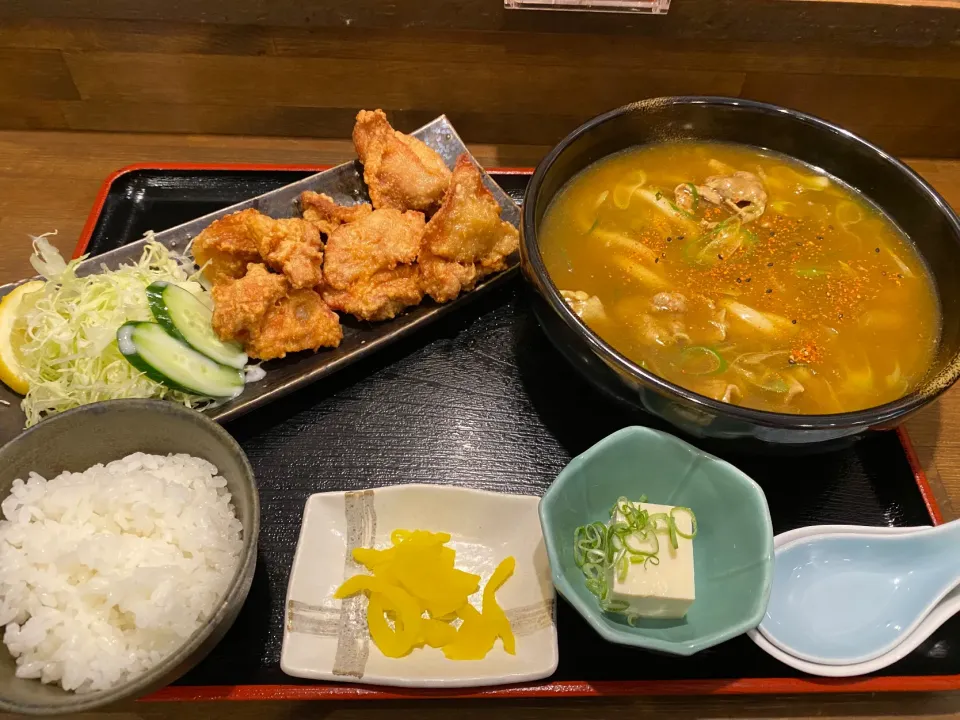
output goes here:
[[202, 660], [236, 620], [250, 591], [257, 561], [260, 501], [243, 450], [204, 415], [163, 400], [111, 400], [55, 415], [0, 448], [0, 498], [17, 478], [35, 471], [51, 478], [80, 472], [132, 453], [186, 453], [213, 463], [227, 481], [243, 547], [237, 569], [213, 616], [172, 655], [148, 672], [98, 692], [76, 694], [59, 685], [16, 677], [16, 662], [0, 646], [0, 712], [58, 715], [88, 712], [140, 697], [176, 680]]

